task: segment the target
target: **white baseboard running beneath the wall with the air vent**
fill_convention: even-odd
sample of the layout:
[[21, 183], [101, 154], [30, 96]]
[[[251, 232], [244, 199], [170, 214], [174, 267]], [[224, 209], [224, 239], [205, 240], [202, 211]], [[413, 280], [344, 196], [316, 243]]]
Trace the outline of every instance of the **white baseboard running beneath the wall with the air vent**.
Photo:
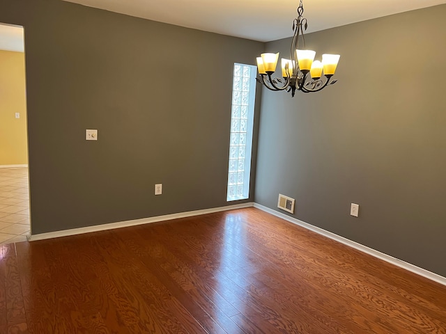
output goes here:
[[324, 237], [328, 237], [334, 241], [338, 241], [341, 244], [344, 244], [346, 246], [350, 246], [352, 248], [355, 248], [357, 250], [360, 250], [363, 253], [367, 253], [369, 255], [372, 255], [374, 257], [378, 257], [378, 259], [383, 260], [385, 262], [389, 262], [391, 264], [394, 264], [397, 267], [406, 269], [408, 271], [411, 271], [413, 273], [416, 273], [417, 275], [423, 276], [424, 278], [428, 278], [429, 280], [433, 280], [436, 283], [440, 283], [441, 285], [446, 285], [446, 277], [440, 276], [436, 273], [432, 273], [431, 271], [428, 271], [426, 269], [422, 269], [420, 267], [415, 266], [414, 264], [410, 264], [408, 262], [404, 262], [402, 260], [397, 259], [396, 257], [392, 257], [390, 255], [387, 255], [385, 253], [381, 253], [378, 250], [374, 250], [373, 248], [369, 248], [367, 246], [364, 246], [362, 244], [358, 244], [355, 241], [351, 241], [350, 239], [341, 237], [340, 235], [334, 234], [332, 232], [328, 232], [327, 230], [323, 230], [322, 228], [318, 228], [314, 225], [310, 225], [309, 223], [305, 223], [304, 221], [300, 221], [299, 219], [287, 216], [286, 214], [282, 214], [281, 212], [277, 212], [273, 209], [270, 209], [269, 207], [265, 207], [263, 205], [254, 203], [254, 207], [257, 209], [261, 209], [264, 212], [268, 212], [268, 214], [272, 214], [274, 216], [277, 216], [279, 218], [284, 219], [285, 221], [289, 221], [290, 223], [296, 224], [301, 226], [302, 228], [306, 228], [307, 230], [311, 230], [313, 232], [316, 232], [318, 234], [323, 235]]

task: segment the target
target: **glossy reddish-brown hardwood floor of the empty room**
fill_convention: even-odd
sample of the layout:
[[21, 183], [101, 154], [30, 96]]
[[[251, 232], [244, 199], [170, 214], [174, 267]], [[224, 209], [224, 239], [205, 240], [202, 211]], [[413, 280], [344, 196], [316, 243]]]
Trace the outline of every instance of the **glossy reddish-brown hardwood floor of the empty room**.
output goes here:
[[446, 333], [446, 287], [254, 208], [0, 247], [0, 333]]

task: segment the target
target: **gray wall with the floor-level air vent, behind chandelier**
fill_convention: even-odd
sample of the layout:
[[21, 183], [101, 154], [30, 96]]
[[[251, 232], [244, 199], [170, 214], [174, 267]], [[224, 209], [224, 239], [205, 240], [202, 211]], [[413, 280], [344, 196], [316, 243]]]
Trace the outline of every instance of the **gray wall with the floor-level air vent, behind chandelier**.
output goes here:
[[291, 216], [446, 276], [445, 17], [440, 5], [309, 34], [316, 58], [341, 54], [339, 82], [264, 90], [256, 202], [291, 196]]

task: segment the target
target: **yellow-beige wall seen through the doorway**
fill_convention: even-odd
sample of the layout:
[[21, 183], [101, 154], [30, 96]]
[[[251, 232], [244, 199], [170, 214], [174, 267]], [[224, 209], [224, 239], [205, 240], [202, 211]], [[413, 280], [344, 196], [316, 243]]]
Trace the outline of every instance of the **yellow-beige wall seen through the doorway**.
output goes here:
[[27, 161], [24, 54], [0, 50], [0, 166]]

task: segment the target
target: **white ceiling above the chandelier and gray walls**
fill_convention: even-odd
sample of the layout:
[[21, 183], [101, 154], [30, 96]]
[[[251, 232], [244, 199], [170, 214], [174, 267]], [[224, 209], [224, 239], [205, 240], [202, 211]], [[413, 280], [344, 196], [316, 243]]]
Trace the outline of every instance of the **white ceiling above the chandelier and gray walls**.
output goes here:
[[[64, 0], [188, 28], [267, 42], [291, 36], [298, 0]], [[446, 0], [304, 0], [307, 32]]]

